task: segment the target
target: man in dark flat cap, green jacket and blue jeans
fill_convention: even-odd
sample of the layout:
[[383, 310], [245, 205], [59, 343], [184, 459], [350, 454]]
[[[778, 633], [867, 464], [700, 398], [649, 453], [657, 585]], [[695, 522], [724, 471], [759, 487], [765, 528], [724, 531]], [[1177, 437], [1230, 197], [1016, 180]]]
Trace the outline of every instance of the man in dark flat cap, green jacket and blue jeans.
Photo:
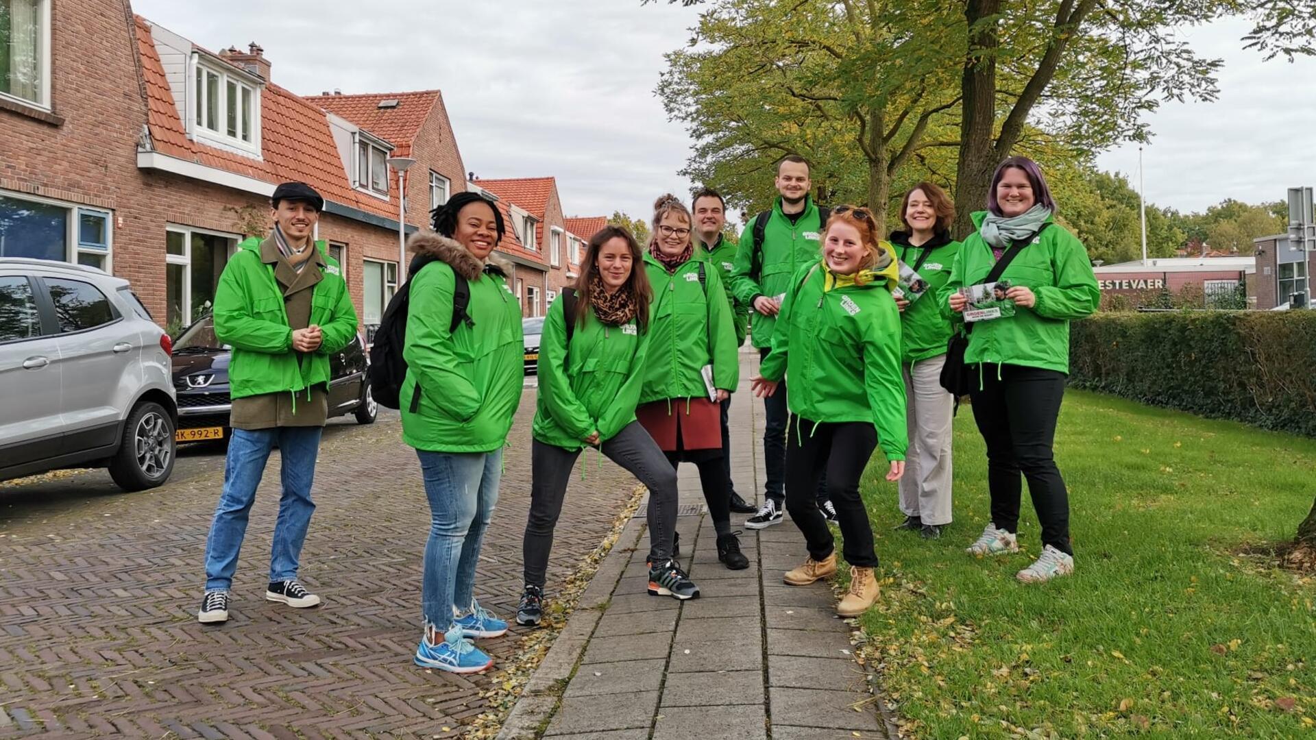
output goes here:
[[320, 194], [305, 183], [283, 183], [270, 204], [272, 233], [238, 245], [215, 291], [215, 336], [233, 348], [233, 438], [205, 542], [203, 623], [229, 619], [247, 515], [275, 446], [283, 496], [265, 598], [297, 608], [320, 603], [297, 582], [297, 558], [316, 508], [311, 483], [328, 416], [329, 356], [351, 342], [357, 312], [338, 263], [315, 241]]

